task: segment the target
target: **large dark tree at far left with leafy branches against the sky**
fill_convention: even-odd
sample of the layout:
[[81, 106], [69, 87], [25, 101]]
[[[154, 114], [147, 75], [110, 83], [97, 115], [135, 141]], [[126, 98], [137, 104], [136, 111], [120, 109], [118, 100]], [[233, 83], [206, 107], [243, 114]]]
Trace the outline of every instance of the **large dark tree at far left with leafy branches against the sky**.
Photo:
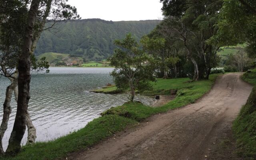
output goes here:
[[[4, 4], [12, 3], [12, 1], [4, 1]], [[16, 1], [15, 1], [16, 2]], [[19, 54], [17, 52], [13, 55], [18, 56], [18, 100], [17, 100], [17, 113], [14, 121], [14, 127], [9, 139], [9, 145], [6, 150], [8, 154], [15, 154], [20, 150], [20, 141], [24, 135], [26, 130], [26, 124], [30, 123], [31, 120], [28, 114], [28, 101], [30, 99], [29, 94], [29, 84], [30, 84], [30, 70], [40, 70], [40, 65], [45, 63], [45, 59], [40, 62], [38, 65], [37, 62], [34, 62], [35, 58], [33, 57], [33, 52], [36, 48], [36, 44], [38, 39], [40, 38], [40, 34], [43, 30], [47, 30], [52, 28], [57, 22], [67, 19], [76, 19], [79, 18], [77, 15], [76, 8], [66, 4], [66, 0], [32, 0], [32, 1], [18, 1], [21, 3], [20, 6], [12, 7], [12, 10], [22, 10], [23, 14], [17, 16], [17, 22], [14, 26], [21, 26], [20, 30], [17, 32], [13, 32], [14, 36], [17, 36], [17, 39], [21, 39], [21, 46], [18, 46], [18, 43], [10, 44], [7, 47], [7, 51], [9, 48], [18, 48], [18, 50], [22, 50]], [[27, 11], [26, 8], [30, 6], [30, 10]], [[11, 14], [9, 12], [3, 12], [1, 15], [1, 22], [4, 24], [8, 24], [13, 21]], [[48, 19], [49, 18], [49, 19]], [[20, 22], [20, 23], [19, 23]], [[45, 24], [47, 25], [45, 27]], [[23, 27], [24, 26], [24, 27]], [[8, 28], [8, 27], [7, 27]], [[9, 29], [12, 26], [9, 26]], [[24, 28], [24, 29], [23, 29]], [[12, 29], [10, 29], [12, 30]], [[20, 36], [23, 35], [23, 36]], [[8, 39], [8, 38], [7, 38]], [[6, 46], [6, 44], [5, 44]], [[22, 48], [22, 49], [21, 49]], [[6, 50], [4, 50], [6, 52]], [[6, 52], [8, 53], [8, 52]], [[10, 55], [10, 54], [9, 54]], [[7, 59], [10, 60], [10, 57]], [[17, 62], [16, 61], [16, 62]], [[5, 61], [4, 61], [5, 62]], [[14, 61], [15, 62], [15, 61]], [[37, 66], [38, 65], [38, 66]], [[3, 70], [4, 71], [4, 70]], [[7, 114], [8, 116], [8, 114]], [[7, 118], [6, 118], [7, 120]], [[28, 126], [28, 136], [30, 136], [31, 141], [35, 140], [35, 130], [31, 130], [34, 128], [32, 122], [30, 126]], [[31, 132], [30, 132], [31, 131]], [[28, 137], [28, 142], [30, 142], [30, 138]]]

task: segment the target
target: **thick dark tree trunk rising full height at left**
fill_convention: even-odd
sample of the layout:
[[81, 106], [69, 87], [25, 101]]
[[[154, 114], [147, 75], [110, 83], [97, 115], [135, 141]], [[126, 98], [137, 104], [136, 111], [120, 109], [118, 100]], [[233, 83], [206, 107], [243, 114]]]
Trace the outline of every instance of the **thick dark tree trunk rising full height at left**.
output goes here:
[[32, 38], [34, 31], [34, 23], [36, 20], [40, 1], [32, 0], [30, 10], [28, 12], [28, 23], [25, 30], [25, 38], [22, 47], [22, 54], [18, 62], [18, 103], [17, 113], [14, 126], [9, 139], [9, 145], [6, 150], [7, 154], [16, 154], [20, 151], [20, 142], [26, 131], [26, 117], [28, 109], [28, 101], [30, 99], [30, 54], [32, 46]]

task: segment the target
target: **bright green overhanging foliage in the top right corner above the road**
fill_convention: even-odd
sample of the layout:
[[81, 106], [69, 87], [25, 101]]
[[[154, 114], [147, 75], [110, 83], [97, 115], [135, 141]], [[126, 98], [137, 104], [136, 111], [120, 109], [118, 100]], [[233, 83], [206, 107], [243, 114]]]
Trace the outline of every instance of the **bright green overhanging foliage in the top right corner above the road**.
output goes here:
[[222, 46], [244, 44], [248, 46], [247, 52], [255, 56], [256, 50], [256, 9], [255, 0], [224, 0], [218, 22], [218, 34], [214, 37]]

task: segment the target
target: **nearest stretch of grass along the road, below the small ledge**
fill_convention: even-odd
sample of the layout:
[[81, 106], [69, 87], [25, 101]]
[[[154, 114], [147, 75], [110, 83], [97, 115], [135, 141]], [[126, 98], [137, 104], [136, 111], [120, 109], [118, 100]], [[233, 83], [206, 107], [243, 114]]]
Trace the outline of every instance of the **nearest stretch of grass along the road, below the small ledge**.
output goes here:
[[65, 158], [67, 153], [87, 148], [93, 144], [124, 130], [137, 122], [117, 115], [107, 115], [94, 119], [84, 128], [50, 142], [37, 142], [22, 147], [15, 157], [0, 157], [1, 160], [55, 160]]

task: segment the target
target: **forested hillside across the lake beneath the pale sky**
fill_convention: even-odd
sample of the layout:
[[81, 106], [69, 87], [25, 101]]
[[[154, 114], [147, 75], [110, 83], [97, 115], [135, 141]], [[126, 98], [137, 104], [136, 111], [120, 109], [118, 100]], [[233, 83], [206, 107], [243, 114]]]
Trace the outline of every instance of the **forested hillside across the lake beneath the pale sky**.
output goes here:
[[139, 40], [148, 34], [160, 20], [112, 22], [101, 19], [69, 20], [44, 31], [38, 41], [36, 56], [46, 52], [70, 54], [84, 60], [103, 60], [114, 51], [114, 40], [128, 32]]

